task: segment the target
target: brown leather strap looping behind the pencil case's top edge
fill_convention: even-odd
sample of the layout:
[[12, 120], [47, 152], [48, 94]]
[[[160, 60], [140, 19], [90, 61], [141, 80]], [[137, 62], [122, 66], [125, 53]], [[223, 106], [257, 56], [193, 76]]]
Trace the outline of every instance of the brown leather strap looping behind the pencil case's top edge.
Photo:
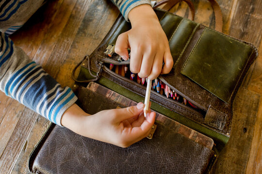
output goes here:
[[[180, 1], [182, 1], [182, 0], [162, 0], [162, 1], [157, 2], [153, 8], [157, 8], [157, 7], [165, 4], [162, 9], [169, 11], [172, 7], [174, 7]], [[183, 1], [185, 1], [188, 4], [190, 11], [191, 11], [191, 14], [192, 14], [191, 20], [194, 20], [194, 16], [195, 16], [194, 4], [191, 2], [191, 0], [183, 0]], [[211, 3], [211, 6], [212, 6], [213, 11], [214, 11], [214, 15], [215, 15], [215, 30], [222, 32], [223, 17], [222, 17], [221, 9], [220, 9], [218, 3], [216, 2], [216, 0], [209, 0], [209, 1]]]

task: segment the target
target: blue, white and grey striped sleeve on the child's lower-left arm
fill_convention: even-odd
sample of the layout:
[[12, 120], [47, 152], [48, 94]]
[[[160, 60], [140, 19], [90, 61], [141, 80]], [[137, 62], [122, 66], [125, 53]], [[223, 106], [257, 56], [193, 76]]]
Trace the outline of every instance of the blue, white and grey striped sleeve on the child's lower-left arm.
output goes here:
[[77, 97], [30, 60], [0, 33], [0, 89], [6, 95], [61, 126], [61, 116]]

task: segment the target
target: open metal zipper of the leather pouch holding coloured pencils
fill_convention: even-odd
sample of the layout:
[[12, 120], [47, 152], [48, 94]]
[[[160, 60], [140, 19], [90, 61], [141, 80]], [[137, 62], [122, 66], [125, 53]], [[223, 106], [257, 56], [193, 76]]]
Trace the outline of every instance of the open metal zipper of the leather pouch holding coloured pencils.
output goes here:
[[[110, 59], [110, 58], [103, 58], [103, 59], [101, 59], [101, 62], [111, 63], [111, 64], [114, 64], [114, 65], [129, 65], [129, 64], [130, 64], [130, 60], [118, 62], [118, 61], [112, 60], [112, 59]], [[116, 77], [118, 77], [118, 78], [120, 78], [120, 79], [122, 79], [122, 80], [124, 80], [124, 81], [127, 81], [127, 82], [129, 82], [129, 83], [131, 83], [131, 84], [133, 84], [133, 85], [138, 85], [139, 87], [141, 87], [141, 88], [143, 88], [143, 89], [145, 89], [145, 90], [147, 89], [147, 87], [142, 86], [142, 85], [138, 84], [137, 82], [130, 80], [130, 79], [127, 78], [127, 77], [124, 77], [124, 76], [122, 76], [122, 75], [119, 75], [119, 74], [111, 71], [111, 70], [110, 70], [109, 68], [107, 68], [106, 66], [102, 66], [102, 69], [103, 69], [104, 71], [106, 71], [107, 73], [114, 74]], [[160, 76], [159, 76], [159, 77], [160, 77]], [[159, 78], [159, 77], [158, 77], [158, 78]], [[162, 77], [159, 78], [159, 79], [160, 79], [161, 81], [163, 81], [165, 84], [168, 84], [168, 83], [166, 83], [166, 81], [165, 81]], [[168, 85], [169, 85], [169, 84], [168, 84]], [[170, 88], [171, 88], [171, 87], [170, 87]], [[176, 90], [175, 88], [172, 87], [172, 89], [174, 89], [174, 90], [177, 92], [177, 90]], [[169, 99], [169, 98], [167, 98], [167, 97], [159, 94], [158, 92], [156, 92], [156, 91], [154, 91], [154, 90], [151, 90], [151, 93], [154, 93], [155, 95], [161, 97], [161, 98], [164, 99], [164, 100], [168, 100], [169, 102], [173, 102], [173, 103], [176, 103], [176, 104], [178, 104], [178, 105], [180, 105], [180, 106], [182, 106], [182, 107], [185, 107], [186, 109], [189, 109], [190, 111], [197, 112], [198, 114], [200, 114], [200, 115], [202, 116], [202, 114], [201, 114], [199, 111], [197, 111], [196, 109], [194, 109], [194, 108], [191, 108], [191, 107], [189, 107], [189, 106], [187, 106], [187, 105], [183, 105], [183, 104], [181, 104], [180, 102], [175, 101], [174, 99]], [[177, 93], [178, 93], [181, 97], [184, 97], [185, 99], [187, 99], [189, 102], [192, 102], [191, 100], [189, 100], [189, 99], [188, 99], [187, 97], [185, 97], [184, 95], [181, 95], [179, 92], [177, 92]], [[196, 102], [192, 102], [192, 103], [194, 103], [194, 105], [195, 105]], [[201, 109], [201, 110], [203, 110], [203, 111], [206, 112], [206, 110], [205, 110], [202, 106], [200, 106], [199, 104], [196, 104], [196, 107], [197, 107], [198, 109]]]

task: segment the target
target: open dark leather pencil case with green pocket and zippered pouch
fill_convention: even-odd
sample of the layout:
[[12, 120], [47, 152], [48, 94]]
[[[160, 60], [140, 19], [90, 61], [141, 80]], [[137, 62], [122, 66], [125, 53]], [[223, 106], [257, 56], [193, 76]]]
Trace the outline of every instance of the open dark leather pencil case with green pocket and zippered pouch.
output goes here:
[[[150, 100], [229, 137], [232, 103], [248, 68], [258, 56], [257, 49], [251, 43], [162, 9], [156, 8], [155, 13], [168, 38], [174, 60], [171, 72], [160, 75], [159, 79], [195, 107], [166, 98], [153, 90]], [[129, 65], [130, 61], [119, 62], [118, 55], [108, 57], [104, 54], [109, 45], [115, 44], [118, 35], [129, 29], [131, 24], [119, 15], [103, 41], [90, 56], [84, 58], [81, 67], [96, 72], [96, 80], [98, 75], [102, 75], [145, 96], [145, 86], [109, 68], [110, 64]]]

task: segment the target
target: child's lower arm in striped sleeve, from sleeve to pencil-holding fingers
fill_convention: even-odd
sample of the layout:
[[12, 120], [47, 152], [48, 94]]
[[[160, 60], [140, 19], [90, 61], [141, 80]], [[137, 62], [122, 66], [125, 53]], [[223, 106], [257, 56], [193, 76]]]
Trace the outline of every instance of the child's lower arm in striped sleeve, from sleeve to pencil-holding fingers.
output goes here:
[[127, 147], [149, 133], [155, 114], [145, 119], [143, 104], [90, 116], [74, 104], [77, 97], [69, 87], [61, 87], [6, 35], [0, 33], [0, 40], [0, 89], [6, 95], [58, 125], [114, 145]]

